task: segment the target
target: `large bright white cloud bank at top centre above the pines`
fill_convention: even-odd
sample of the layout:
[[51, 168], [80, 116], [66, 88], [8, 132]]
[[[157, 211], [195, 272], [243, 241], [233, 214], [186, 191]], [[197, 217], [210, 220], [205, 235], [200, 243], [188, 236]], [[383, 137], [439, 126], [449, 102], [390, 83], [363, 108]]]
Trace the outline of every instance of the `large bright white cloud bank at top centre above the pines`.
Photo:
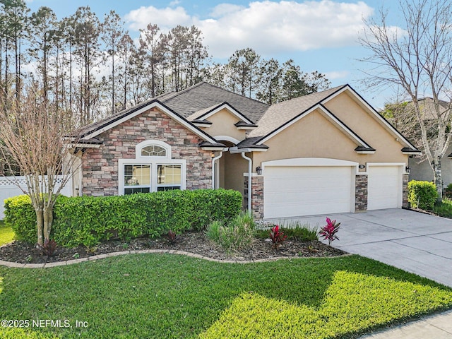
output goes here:
[[149, 22], [160, 28], [196, 25], [203, 32], [210, 54], [228, 57], [236, 49], [251, 47], [263, 55], [357, 44], [362, 18], [372, 8], [363, 1], [254, 1], [248, 6], [220, 4], [208, 18], [189, 16], [184, 8], [141, 7], [126, 16], [131, 29]]

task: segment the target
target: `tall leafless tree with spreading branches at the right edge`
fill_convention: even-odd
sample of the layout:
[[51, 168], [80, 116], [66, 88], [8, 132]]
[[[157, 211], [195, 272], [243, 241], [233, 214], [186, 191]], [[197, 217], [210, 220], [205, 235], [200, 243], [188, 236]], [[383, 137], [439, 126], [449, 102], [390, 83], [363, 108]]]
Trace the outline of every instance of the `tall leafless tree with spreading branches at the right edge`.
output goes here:
[[[412, 102], [440, 201], [441, 158], [452, 131], [452, 4], [450, 0], [399, 0], [399, 5], [403, 13], [402, 30], [388, 24], [388, 12], [383, 8], [378, 19], [365, 21], [367, 30], [360, 42], [371, 56], [363, 60], [375, 66], [368, 73], [367, 84], [397, 85], [403, 90], [405, 100]], [[429, 119], [425, 119], [423, 100], [420, 100], [425, 93], [432, 96]], [[433, 132], [432, 123], [436, 126]]]

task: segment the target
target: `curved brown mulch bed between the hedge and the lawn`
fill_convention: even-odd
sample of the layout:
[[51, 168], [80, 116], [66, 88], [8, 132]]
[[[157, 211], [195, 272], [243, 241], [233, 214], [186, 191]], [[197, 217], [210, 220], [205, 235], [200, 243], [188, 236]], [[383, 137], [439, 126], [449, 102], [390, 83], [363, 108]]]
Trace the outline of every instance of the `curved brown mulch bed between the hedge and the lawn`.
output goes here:
[[12, 242], [0, 247], [0, 259], [16, 263], [54, 263], [74, 258], [86, 258], [97, 254], [140, 249], [174, 249], [215, 259], [236, 261], [258, 260], [279, 256], [328, 257], [346, 254], [344, 251], [334, 249], [318, 241], [302, 242], [294, 239], [287, 240], [280, 249], [273, 249], [271, 243], [266, 239], [255, 239], [249, 248], [243, 251], [227, 253], [220, 246], [207, 239], [205, 234], [188, 232], [179, 235], [175, 242], [169, 242], [165, 238], [138, 238], [130, 242], [113, 240], [98, 244], [92, 249], [88, 249], [85, 246], [78, 246], [75, 249], [57, 247], [54, 256], [50, 257], [42, 255], [41, 251], [33, 245], [24, 242]]

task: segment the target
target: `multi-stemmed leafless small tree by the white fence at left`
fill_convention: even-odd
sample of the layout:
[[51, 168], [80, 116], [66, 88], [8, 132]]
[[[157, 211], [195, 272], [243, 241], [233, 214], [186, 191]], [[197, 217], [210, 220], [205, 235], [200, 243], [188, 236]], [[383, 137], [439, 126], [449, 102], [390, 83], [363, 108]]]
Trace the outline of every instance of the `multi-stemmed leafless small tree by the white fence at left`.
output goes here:
[[71, 129], [69, 113], [37, 93], [40, 90], [30, 88], [20, 102], [1, 105], [0, 148], [7, 165], [17, 163], [25, 177], [26, 189], [17, 179], [13, 184], [30, 196], [36, 212], [37, 244], [42, 246], [50, 240], [54, 204], [71, 178], [71, 162], [76, 157], [64, 138]]

